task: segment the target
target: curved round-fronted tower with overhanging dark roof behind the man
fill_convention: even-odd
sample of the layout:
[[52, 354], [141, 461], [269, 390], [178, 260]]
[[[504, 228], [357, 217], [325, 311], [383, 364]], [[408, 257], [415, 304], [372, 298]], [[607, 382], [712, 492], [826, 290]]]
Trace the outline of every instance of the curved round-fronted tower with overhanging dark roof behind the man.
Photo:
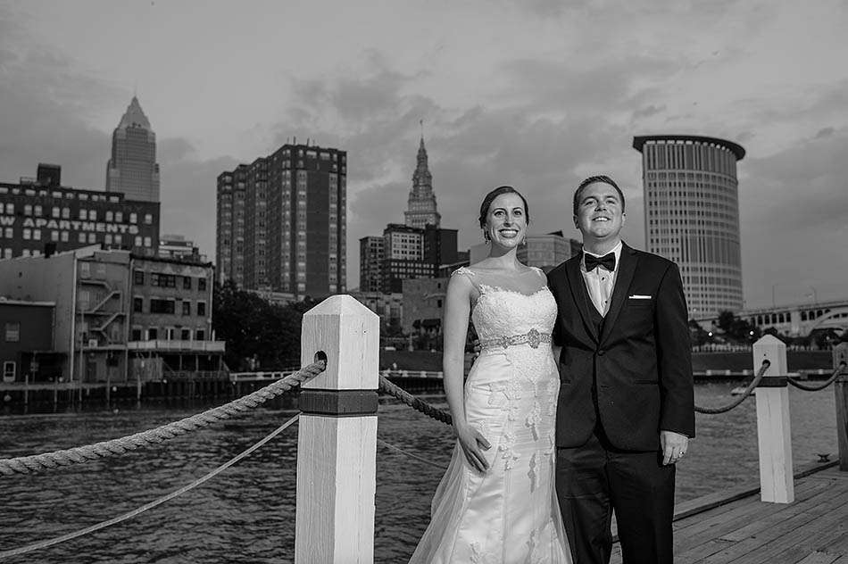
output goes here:
[[642, 153], [644, 240], [678, 263], [691, 317], [743, 307], [736, 162], [745, 150], [687, 135], [633, 138]]

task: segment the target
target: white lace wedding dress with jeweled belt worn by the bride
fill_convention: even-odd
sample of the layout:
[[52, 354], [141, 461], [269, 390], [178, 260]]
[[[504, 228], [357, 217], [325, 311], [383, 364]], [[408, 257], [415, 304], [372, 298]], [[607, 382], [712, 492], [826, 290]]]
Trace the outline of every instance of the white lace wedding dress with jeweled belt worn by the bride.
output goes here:
[[[472, 469], [456, 444], [411, 564], [571, 562], [553, 489], [559, 372], [550, 340], [539, 342], [551, 335], [557, 306], [545, 274], [536, 274], [538, 290], [525, 294], [466, 268], [453, 273], [477, 286], [471, 319], [480, 342], [490, 343], [465, 382], [466, 418], [492, 445], [484, 451], [489, 469]], [[503, 337], [528, 342], [491, 344]]]

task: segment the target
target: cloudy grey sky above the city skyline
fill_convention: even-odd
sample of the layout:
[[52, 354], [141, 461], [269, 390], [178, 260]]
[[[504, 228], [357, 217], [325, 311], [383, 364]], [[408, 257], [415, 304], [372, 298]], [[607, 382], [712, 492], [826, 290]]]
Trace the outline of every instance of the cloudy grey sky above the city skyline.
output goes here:
[[0, 180], [62, 165], [104, 187], [136, 92], [158, 138], [162, 231], [214, 256], [215, 178], [291, 137], [348, 152], [358, 239], [402, 221], [419, 120], [443, 226], [480, 241], [487, 189], [578, 236], [569, 198], [607, 172], [644, 245], [635, 135], [744, 145], [747, 306], [848, 297], [848, 2], [0, 0]]

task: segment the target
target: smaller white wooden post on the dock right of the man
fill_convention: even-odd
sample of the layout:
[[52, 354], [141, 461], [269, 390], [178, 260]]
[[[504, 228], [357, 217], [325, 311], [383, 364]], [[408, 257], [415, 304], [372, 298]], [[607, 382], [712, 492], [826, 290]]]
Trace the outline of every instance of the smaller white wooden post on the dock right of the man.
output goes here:
[[789, 390], [786, 387], [786, 344], [766, 335], [753, 344], [753, 369], [762, 361], [769, 369], [757, 386], [757, 438], [760, 445], [760, 499], [792, 503], [792, 429], [789, 426]]

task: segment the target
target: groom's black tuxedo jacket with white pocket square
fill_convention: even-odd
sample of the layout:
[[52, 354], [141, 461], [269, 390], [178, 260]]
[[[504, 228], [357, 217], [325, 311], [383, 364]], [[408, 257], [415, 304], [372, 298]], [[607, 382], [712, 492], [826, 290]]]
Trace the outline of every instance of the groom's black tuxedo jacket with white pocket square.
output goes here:
[[[556, 444], [585, 444], [600, 418], [611, 444], [660, 448], [660, 431], [694, 436], [692, 352], [678, 266], [623, 245], [599, 332], [580, 273], [582, 253], [548, 273], [562, 345]], [[636, 296], [650, 296], [649, 298]]]

